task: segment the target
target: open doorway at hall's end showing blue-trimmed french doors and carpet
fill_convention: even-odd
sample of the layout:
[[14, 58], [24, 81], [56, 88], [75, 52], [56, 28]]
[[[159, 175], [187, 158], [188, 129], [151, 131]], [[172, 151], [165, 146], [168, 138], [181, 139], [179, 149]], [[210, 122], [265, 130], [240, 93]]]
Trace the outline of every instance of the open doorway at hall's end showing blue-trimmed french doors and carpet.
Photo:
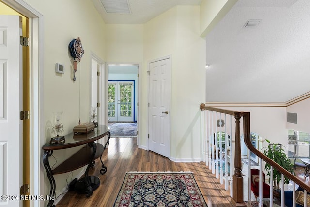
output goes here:
[[138, 64], [108, 64], [108, 117], [111, 137], [137, 137]]

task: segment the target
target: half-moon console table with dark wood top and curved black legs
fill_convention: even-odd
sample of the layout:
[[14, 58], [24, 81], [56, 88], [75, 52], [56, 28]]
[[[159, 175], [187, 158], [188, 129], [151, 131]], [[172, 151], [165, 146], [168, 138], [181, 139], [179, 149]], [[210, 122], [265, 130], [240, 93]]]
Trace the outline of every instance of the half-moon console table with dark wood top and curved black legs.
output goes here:
[[[109, 138], [105, 145], [95, 143], [96, 140], [99, 140], [106, 135], [109, 135]], [[98, 125], [93, 131], [88, 133], [70, 133], [65, 135], [65, 143], [58, 144], [50, 144], [46, 143], [43, 145], [42, 149], [43, 153], [43, 164], [44, 168], [47, 171], [47, 178], [50, 182], [50, 191], [47, 207], [55, 207], [53, 205], [55, 199], [55, 190], [56, 190], [56, 182], [53, 175], [62, 174], [66, 172], [70, 172], [81, 168], [85, 165], [88, 165], [85, 170], [85, 176], [82, 178], [82, 182], [85, 186], [85, 195], [89, 197], [93, 194], [93, 191], [100, 184], [100, 180], [98, 177], [88, 176], [89, 169], [94, 166], [94, 160], [100, 157], [100, 161], [102, 163], [102, 169], [100, 170], [101, 174], [104, 174], [107, 171], [107, 167], [104, 166], [101, 156], [104, 150], [106, 149], [107, 144], [110, 139], [110, 128], [106, 125]], [[64, 160], [60, 165], [58, 165], [55, 169], [51, 169], [49, 165], [48, 158], [53, 154], [53, 150], [61, 150], [72, 147], [77, 147], [85, 145], [82, 147], [77, 153], [73, 154], [68, 159]], [[87, 178], [87, 179], [86, 179]]]

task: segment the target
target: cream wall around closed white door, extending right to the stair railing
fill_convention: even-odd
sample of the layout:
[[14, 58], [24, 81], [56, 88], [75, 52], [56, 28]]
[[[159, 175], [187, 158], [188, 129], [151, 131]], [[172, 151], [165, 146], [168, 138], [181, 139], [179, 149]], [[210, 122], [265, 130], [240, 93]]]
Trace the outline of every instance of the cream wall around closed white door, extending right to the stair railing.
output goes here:
[[[199, 104], [205, 100], [205, 41], [200, 38], [199, 6], [177, 6], [144, 26], [144, 67], [171, 55], [171, 159], [201, 160]], [[146, 73], [143, 80], [148, 80]], [[147, 82], [144, 85], [147, 87]], [[142, 86], [143, 87], [143, 86]], [[142, 110], [147, 112], [148, 92], [142, 92]], [[147, 113], [143, 113], [143, 137], [147, 135]], [[142, 140], [147, 145], [147, 139]]]

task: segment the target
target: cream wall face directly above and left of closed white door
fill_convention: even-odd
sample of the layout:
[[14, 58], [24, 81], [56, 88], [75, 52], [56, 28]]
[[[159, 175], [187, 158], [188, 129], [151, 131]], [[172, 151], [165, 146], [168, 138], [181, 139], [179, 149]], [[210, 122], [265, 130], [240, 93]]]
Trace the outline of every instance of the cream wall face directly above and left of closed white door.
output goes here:
[[[147, 148], [148, 134], [148, 62], [160, 57], [175, 54], [176, 37], [176, 7], [156, 16], [144, 24], [144, 57], [143, 70], [140, 72], [141, 84], [141, 128], [139, 130], [140, 147]], [[172, 56], [172, 66], [173, 59]], [[173, 75], [171, 75], [173, 76]]]

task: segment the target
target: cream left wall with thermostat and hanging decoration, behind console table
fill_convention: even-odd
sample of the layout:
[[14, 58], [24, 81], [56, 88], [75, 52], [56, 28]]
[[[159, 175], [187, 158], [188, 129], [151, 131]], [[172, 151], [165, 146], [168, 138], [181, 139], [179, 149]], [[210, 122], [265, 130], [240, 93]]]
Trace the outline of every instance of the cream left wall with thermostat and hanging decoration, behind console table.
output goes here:
[[[42, 0], [25, 0], [31, 7], [43, 15], [44, 20], [44, 54], [43, 72], [43, 120], [46, 142], [54, 136], [51, 134], [54, 111], [63, 111], [64, 134], [70, 133], [73, 127], [81, 122], [89, 121], [91, 104], [91, 53], [102, 60], [105, 59], [105, 23], [99, 16], [91, 1], [54, 0], [52, 3]], [[48, 3], [48, 4], [47, 4]], [[61, 6], [60, 6], [61, 5]], [[80, 37], [84, 55], [78, 63], [77, 81], [72, 80], [72, 59], [68, 52], [68, 44], [73, 38]], [[55, 73], [55, 64], [64, 64], [64, 74]], [[80, 89], [80, 92], [79, 92]], [[79, 98], [79, 94], [81, 98]], [[80, 110], [81, 109], [81, 110]], [[50, 159], [51, 165], [62, 163], [72, 150], [56, 150], [53, 153], [56, 161]], [[73, 172], [75, 178], [78, 173]], [[44, 172], [45, 173], [45, 172]], [[46, 173], [45, 173], [46, 175]], [[70, 182], [69, 173], [55, 175], [56, 196]], [[46, 177], [45, 177], [46, 178]], [[49, 194], [49, 182], [45, 179], [44, 195]]]

